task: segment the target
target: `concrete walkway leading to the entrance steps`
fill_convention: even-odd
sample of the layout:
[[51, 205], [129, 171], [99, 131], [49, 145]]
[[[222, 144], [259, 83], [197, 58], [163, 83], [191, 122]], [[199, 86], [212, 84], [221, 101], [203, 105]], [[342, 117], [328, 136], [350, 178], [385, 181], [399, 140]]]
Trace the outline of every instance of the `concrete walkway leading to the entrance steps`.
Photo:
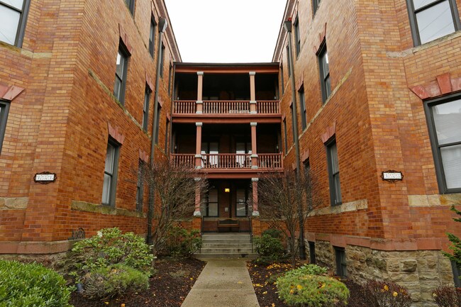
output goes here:
[[244, 259], [209, 259], [182, 307], [260, 307]]

